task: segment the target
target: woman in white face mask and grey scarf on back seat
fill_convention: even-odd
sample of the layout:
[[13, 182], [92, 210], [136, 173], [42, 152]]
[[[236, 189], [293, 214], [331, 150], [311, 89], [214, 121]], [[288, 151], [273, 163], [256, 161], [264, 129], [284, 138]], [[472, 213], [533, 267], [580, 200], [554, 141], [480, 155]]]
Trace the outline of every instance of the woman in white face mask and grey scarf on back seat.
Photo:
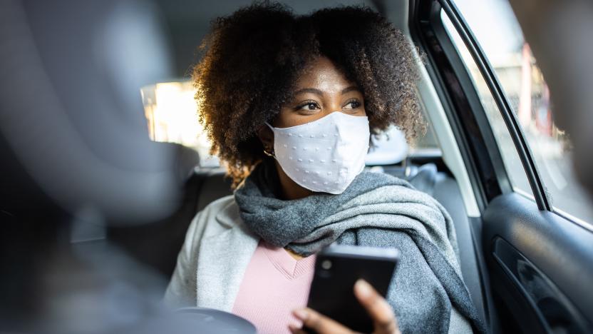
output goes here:
[[260, 333], [348, 333], [303, 308], [315, 253], [397, 247], [386, 300], [354, 288], [377, 333], [481, 330], [448, 213], [405, 181], [361, 173], [371, 133], [423, 131], [403, 34], [369, 9], [297, 17], [257, 4], [217, 19], [202, 49], [200, 121], [236, 190], [192, 221], [165, 300], [236, 313]]

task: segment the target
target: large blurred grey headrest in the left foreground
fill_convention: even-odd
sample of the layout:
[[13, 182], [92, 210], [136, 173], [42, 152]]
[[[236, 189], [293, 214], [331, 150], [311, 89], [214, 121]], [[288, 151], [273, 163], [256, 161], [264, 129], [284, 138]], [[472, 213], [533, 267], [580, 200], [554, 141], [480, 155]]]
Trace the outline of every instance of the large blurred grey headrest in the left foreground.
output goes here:
[[147, 1], [4, 1], [0, 140], [67, 211], [153, 221], [177, 206], [175, 149], [148, 138], [140, 87], [172, 66]]

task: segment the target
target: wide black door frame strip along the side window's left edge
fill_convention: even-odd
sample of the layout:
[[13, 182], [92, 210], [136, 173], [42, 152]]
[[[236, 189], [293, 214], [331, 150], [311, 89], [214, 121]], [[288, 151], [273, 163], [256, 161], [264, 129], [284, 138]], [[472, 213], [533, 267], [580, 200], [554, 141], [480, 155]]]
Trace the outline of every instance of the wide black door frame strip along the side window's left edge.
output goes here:
[[410, 17], [411, 37], [426, 54], [425, 68], [458, 142], [475, 199], [483, 212], [493, 198], [512, 191], [492, 128], [473, 81], [440, 20], [438, 2], [412, 1]]

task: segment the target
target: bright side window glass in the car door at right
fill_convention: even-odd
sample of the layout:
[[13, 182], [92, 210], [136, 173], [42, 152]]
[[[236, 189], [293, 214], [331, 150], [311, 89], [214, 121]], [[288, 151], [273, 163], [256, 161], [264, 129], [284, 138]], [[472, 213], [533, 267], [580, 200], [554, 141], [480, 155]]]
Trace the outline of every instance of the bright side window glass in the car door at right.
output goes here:
[[[588, 198], [572, 171], [569, 138], [557, 128], [547, 84], [507, 1], [455, 0], [468, 27], [495, 71], [515, 113], [543, 182], [548, 200], [557, 213], [593, 223]], [[532, 190], [500, 110], [462, 39], [442, 12], [445, 29], [457, 47], [483, 103], [490, 126], [514, 191], [532, 197]]]

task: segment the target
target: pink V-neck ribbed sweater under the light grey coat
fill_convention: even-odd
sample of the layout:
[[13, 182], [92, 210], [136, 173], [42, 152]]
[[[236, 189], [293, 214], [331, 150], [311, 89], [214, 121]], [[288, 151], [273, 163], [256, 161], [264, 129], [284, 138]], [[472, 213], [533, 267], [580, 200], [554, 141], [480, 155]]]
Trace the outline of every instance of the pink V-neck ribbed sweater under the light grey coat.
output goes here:
[[284, 248], [260, 241], [243, 276], [232, 313], [253, 323], [257, 333], [290, 333], [301, 325], [292, 310], [306, 306], [315, 255], [296, 260]]

